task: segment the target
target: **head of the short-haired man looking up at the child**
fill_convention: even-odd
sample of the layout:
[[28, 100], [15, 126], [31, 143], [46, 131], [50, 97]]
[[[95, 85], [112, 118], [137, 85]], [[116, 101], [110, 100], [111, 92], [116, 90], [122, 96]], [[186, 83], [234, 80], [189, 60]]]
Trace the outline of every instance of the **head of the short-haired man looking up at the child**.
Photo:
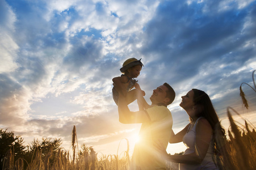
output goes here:
[[162, 86], [157, 87], [153, 90], [153, 94], [150, 97], [152, 104], [164, 103], [169, 105], [173, 103], [175, 98], [175, 91], [168, 83], [163, 83]]

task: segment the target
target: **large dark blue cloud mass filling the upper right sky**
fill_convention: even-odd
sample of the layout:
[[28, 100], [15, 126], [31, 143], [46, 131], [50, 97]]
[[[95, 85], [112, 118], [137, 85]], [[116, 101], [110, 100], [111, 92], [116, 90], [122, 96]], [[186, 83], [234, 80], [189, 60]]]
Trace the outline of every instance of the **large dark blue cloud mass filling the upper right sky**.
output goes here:
[[[203, 11], [205, 6], [208, 11]], [[212, 15], [214, 8], [216, 5], [196, 2], [187, 5], [180, 1], [158, 6], [156, 15], [145, 28], [142, 45], [144, 56], [154, 54], [156, 57], [153, 63], [148, 63], [152, 71], [157, 70], [155, 63], [162, 62], [166, 70], [182, 75], [175, 80], [186, 79], [198, 74], [203, 63], [217, 58], [221, 59], [220, 64], [243, 65], [255, 55], [253, 47], [242, 49], [248, 41], [248, 32], [243, 33], [244, 26], [247, 18], [254, 18], [255, 6], [240, 10], [230, 8]], [[255, 27], [253, 25], [250, 27]], [[251, 30], [250, 27], [247, 29]], [[254, 32], [250, 31], [252, 35]], [[254, 40], [255, 36], [249, 39]]]

